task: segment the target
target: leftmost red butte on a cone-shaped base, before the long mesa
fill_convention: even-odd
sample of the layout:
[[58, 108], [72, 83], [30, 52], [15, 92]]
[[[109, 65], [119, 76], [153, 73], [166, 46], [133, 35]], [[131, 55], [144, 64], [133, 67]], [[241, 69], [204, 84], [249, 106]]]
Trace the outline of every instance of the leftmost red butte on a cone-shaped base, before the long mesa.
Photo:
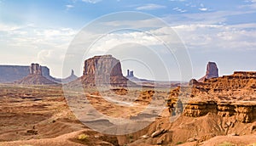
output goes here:
[[16, 84], [26, 85], [56, 85], [54, 81], [50, 81], [42, 75], [42, 66], [38, 64], [32, 64], [29, 68], [29, 75], [22, 78], [20, 81], [15, 81]]

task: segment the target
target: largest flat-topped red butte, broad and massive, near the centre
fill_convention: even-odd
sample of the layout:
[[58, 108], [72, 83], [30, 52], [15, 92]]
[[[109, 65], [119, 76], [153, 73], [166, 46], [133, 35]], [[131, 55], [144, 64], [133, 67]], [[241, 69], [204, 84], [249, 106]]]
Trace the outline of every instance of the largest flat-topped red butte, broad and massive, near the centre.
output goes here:
[[84, 75], [78, 81], [86, 87], [127, 87], [128, 79], [123, 76], [118, 59], [113, 58], [112, 55], [102, 55], [84, 61]]

